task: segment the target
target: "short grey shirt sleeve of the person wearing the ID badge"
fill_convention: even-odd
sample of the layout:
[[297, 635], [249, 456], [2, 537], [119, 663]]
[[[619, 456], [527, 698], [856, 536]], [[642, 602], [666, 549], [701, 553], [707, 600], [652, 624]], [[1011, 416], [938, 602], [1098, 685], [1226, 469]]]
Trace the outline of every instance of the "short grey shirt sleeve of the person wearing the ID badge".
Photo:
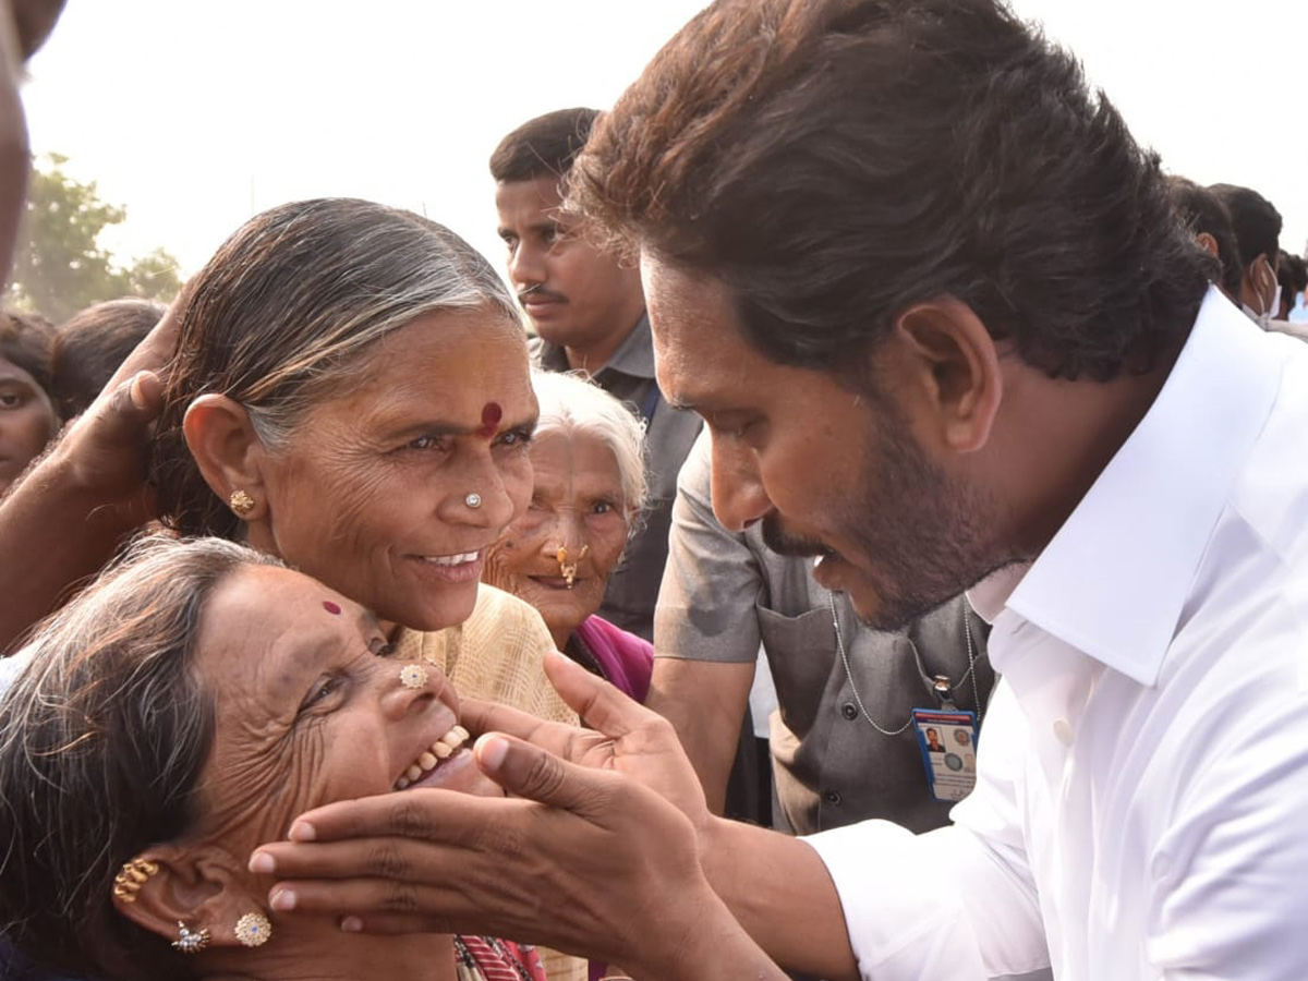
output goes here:
[[655, 657], [752, 664], [759, 657], [757, 560], [713, 517], [709, 436], [681, 467], [654, 612]]

